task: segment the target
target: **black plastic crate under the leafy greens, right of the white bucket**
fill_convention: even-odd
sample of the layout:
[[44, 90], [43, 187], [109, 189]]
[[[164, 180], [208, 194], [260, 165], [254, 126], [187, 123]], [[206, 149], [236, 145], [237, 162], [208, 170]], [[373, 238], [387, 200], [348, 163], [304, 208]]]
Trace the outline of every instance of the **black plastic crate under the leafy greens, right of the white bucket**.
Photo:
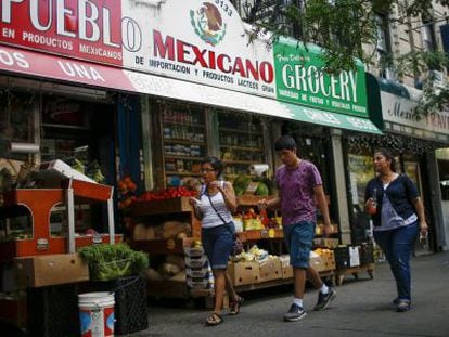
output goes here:
[[94, 289], [115, 294], [115, 335], [127, 335], [149, 327], [145, 276], [95, 282]]

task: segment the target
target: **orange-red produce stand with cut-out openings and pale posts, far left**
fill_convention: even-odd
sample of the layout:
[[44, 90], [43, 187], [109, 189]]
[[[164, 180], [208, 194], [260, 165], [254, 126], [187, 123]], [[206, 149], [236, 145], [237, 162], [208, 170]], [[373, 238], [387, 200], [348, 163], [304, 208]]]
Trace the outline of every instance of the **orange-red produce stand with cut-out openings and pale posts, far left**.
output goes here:
[[[75, 252], [76, 247], [87, 246], [95, 241], [114, 244], [119, 239], [120, 236], [116, 237], [114, 233], [113, 187], [72, 179], [65, 181], [64, 185], [66, 185], [64, 189], [18, 189], [4, 193], [4, 203], [0, 209], [2, 212], [4, 210], [5, 215], [11, 215], [13, 209], [20, 213], [20, 206], [25, 207], [31, 218], [33, 237], [1, 242], [0, 262], [11, 261], [14, 257]], [[75, 236], [75, 202], [106, 202], [108, 235]], [[62, 204], [67, 207], [67, 237], [54, 237], [50, 234], [50, 213], [54, 206]]]

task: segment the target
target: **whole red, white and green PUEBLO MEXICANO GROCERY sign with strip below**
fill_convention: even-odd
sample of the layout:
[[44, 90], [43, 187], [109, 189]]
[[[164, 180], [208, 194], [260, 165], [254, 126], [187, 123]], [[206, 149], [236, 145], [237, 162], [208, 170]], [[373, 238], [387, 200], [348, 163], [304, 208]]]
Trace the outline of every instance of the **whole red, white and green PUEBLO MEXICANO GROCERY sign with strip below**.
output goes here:
[[[251, 37], [251, 27], [229, 0], [3, 0], [0, 5], [0, 43], [72, 57], [51, 56], [42, 64], [23, 49], [5, 47], [0, 63], [10, 70], [137, 92], [159, 89], [155, 82], [166, 86], [155, 77], [144, 83], [149, 79], [140, 75], [147, 73], [182, 80], [188, 88], [221, 89], [214, 99], [205, 98], [209, 103], [229, 98], [222, 94], [227, 89], [302, 105], [285, 114], [277, 103], [279, 115], [269, 115], [357, 130], [373, 127], [367, 118], [362, 65], [331, 76], [320, 72], [323, 61], [316, 47], [305, 50], [281, 40], [269, 48], [266, 36]], [[111, 65], [126, 70], [106, 72]], [[106, 79], [111, 74], [119, 75]], [[201, 88], [200, 95], [213, 94]], [[248, 111], [259, 106], [264, 114], [273, 105], [247, 98], [238, 105], [244, 104]]]

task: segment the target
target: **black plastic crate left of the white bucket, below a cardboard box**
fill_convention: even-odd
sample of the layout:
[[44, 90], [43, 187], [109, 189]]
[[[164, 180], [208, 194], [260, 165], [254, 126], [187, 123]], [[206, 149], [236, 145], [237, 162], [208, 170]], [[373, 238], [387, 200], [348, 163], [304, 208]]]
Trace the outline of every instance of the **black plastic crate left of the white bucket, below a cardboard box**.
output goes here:
[[78, 291], [74, 284], [27, 288], [28, 335], [78, 337]]

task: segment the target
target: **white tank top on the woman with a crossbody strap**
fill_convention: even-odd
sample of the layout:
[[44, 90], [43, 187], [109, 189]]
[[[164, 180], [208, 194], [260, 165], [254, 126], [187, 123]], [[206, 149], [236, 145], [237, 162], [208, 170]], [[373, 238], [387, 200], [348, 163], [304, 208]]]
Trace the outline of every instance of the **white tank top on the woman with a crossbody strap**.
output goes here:
[[[224, 181], [221, 181], [221, 187], [224, 186]], [[232, 215], [226, 206], [224, 198], [222, 193], [218, 192], [214, 195], [210, 195], [210, 200], [214, 203], [215, 209], [220, 213], [221, 218], [229, 223], [232, 221]], [[203, 213], [202, 228], [210, 229], [218, 225], [224, 225], [224, 222], [220, 219], [214, 208], [210, 206], [209, 197], [207, 196], [207, 187], [202, 186], [201, 194], [201, 206], [200, 210]]]

